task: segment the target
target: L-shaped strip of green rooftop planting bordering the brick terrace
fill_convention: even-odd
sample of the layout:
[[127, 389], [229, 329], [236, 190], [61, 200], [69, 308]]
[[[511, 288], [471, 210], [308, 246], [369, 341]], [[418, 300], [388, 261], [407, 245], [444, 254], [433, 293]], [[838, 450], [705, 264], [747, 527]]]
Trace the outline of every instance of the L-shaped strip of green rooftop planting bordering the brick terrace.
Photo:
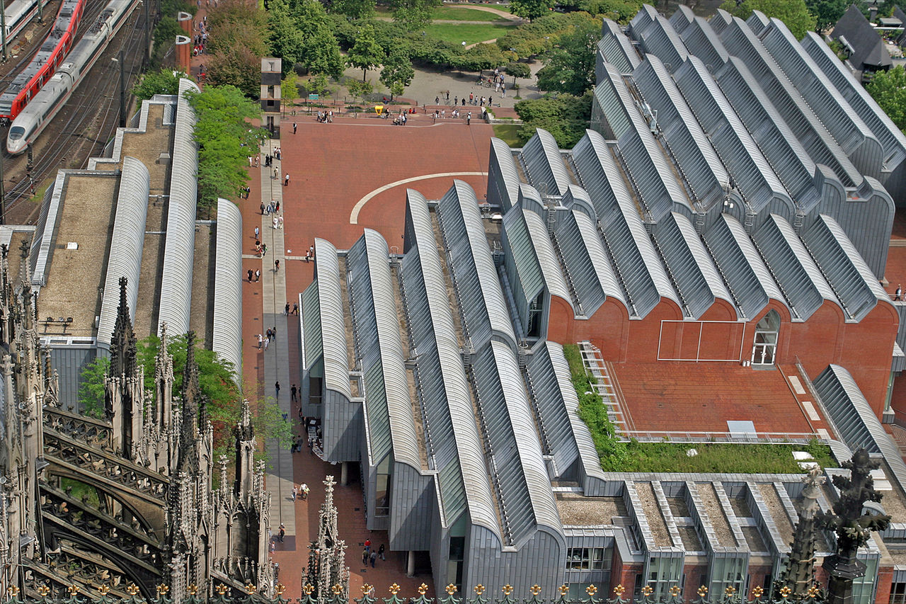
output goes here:
[[[605, 472], [717, 472], [791, 474], [805, 472], [794, 451], [811, 453], [821, 467], [836, 467], [830, 448], [814, 440], [807, 444], [641, 443], [620, 440], [607, 417], [601, 396], [592, 388], [579, 346], [564, 346], [564, 356], [579, 397], [579, 417], [592, 433]], [[698, 454], [689, 457], [689, 449]]]

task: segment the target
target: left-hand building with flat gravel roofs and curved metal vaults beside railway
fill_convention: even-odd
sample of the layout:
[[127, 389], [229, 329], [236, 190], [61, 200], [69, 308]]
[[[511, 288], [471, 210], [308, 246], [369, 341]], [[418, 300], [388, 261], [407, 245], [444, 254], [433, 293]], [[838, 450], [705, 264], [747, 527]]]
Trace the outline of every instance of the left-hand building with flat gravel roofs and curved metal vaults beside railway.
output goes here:
[[45, 193], [32, 284], [64, 408], [77, 404], [84, 366], [109, 355], [121, 277], [139, 338], [166, 321], [170, 336], [192, 329], [239, 366], [241, 219], [224, 201], [217, 208], [224, 229], [219, 220], [196, 220], [195, 117], [182, 98], [188, 90], [198, 88], [183, 80], [178, 97], [142, 103], [107, 157], [93, 158], [87, 170], [60, 170]]

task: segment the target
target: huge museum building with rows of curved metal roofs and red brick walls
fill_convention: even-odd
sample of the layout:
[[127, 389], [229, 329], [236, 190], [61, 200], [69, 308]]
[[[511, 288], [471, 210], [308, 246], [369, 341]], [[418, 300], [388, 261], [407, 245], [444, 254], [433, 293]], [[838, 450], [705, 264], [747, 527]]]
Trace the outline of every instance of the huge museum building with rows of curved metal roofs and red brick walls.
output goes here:
[[603, 472], [564, 356], [578, 342], [626, 437], [868, 446], [894, 520], [860, 552], [855, 601], [903, 587], [906, 468], [880, 419], [902, 307], [878, 281], [906, 145], [820, 58], [758, 13], [646, 6], [626, 33], [605, 21], [573, 150], [492, 141], [487, 202], [462, 181], [409, 190], [401, 253], [368, 229], [315, 241], [302, 412], [410, 569], [547, 598], [770, 588], [801, 476]]

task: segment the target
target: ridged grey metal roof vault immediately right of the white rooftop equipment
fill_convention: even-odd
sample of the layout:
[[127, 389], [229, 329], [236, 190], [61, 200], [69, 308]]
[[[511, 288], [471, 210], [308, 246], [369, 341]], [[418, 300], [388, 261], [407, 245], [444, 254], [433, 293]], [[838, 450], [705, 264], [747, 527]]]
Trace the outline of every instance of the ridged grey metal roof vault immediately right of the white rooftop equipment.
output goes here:
[[664, 139], [682, 166], [693, 199], [705, 207], [723, 200], [727, 170], [660, 58], [646, 55], [632, 77], [645, 101], [658, 112]]

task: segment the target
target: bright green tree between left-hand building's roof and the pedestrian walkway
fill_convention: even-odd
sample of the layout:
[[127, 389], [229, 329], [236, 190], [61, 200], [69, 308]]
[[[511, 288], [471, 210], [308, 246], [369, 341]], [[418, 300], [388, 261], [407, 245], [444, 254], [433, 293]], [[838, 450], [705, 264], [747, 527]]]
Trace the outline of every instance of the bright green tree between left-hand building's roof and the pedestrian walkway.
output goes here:
[[248, 150], [257, 149], [267, 134], [251, 126], [260, 109], [235, 86], [206, 86], [187, 98], [198, 118], [198, 206], [209, 207], [245, 186]]

